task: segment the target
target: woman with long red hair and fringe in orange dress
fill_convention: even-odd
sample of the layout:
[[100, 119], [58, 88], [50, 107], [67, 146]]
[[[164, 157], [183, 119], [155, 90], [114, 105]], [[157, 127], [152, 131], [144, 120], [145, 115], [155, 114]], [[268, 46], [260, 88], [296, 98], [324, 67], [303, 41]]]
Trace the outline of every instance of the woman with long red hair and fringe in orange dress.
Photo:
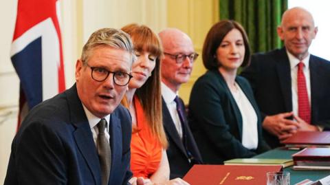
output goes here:
[[131, 36], [137, 56], [132, 65], [133, 78], [122, 100], [132, 116], [131, 182], [142, 177], [146, 184], [187, 184], [179, 178], [169, 180], [160, 89], [162, 45], [157, 34], [145, 25], [126, 25], [122, 30]]

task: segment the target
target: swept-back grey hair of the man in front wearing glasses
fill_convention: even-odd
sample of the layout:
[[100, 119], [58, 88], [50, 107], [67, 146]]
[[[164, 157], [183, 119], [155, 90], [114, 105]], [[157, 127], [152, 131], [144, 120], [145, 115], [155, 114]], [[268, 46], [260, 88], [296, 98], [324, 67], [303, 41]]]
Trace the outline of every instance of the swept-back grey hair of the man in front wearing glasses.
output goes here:
[[115, 49], [126, 50], [131, 54], [131, 64], [136, 60], [133, 43], [129, 34], [126, 34], [122, 30], [102, 28], [91, 34], [87, 43], [85, 43], [80, 57], [83, 65], [87, 65], [91, 51], [100, 45], [108, 45]]

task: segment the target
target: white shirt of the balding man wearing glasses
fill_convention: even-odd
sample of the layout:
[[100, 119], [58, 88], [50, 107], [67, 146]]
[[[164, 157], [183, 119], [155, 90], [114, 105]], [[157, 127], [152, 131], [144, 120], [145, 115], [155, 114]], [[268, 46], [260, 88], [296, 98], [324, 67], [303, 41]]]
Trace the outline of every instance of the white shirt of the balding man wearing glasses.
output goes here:
[[177, 92], [173, 92], [169, 87], [167, 87], [164, 83], [162, 83], [162, 96], [166, 103], [166, 107], [170, 112], [170, 117], [172, 118], [175, 128], [177, 129], [177, 133], [179, 133], [179, 137], [182, 140], [182, 127], [181, 121], [179, 118], [179, 113], [177, 113], [177, 103], [174, 101], [175, 96], [177, 96]]

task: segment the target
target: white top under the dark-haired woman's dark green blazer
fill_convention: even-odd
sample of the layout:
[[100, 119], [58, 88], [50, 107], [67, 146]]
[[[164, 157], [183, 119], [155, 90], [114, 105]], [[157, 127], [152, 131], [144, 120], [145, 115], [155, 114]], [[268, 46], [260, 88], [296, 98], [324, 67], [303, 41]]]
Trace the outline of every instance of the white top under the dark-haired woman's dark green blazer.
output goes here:
[[250, 100], [245, 96], [241, 87], [239, 87], [237, 83], [235, 83], [235, 86], [237, 90], [232, 91], [230, 89], [230, 91], [232, 92], [232, 96], [242, 116], [242, 144], [247, 149], [256, 149], [258, 148], [258, 118], [256, 116], [256, 111], [252, 107]]

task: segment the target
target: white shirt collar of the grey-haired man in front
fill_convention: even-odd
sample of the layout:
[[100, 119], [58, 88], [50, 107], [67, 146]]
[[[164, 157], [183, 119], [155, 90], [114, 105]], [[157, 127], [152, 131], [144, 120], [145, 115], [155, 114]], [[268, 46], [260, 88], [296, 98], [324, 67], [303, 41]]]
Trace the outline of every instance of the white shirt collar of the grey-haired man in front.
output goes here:
[[[95, 146], [97, 147], [97, 140], [98, 140], [98, 122], [100, 122], [100, 118], [94, 116], [93, 113], [91, 113], [84, 105], [84, 111], [87, 117], [87, 120], [89, 122], [89, 127], [91, 127], [91, 133], [93, 134], [93, 139]], [[110, 114], [104, 117], [105, 120], [107, 120], [107, 129], [105, 129], [105, 137], [107, 138], [108, 142], [110, 140], [110, 135], [109, 135], [109, 120], [110, 120]], [[109, 142], [110, 143], [110, 142]]]

